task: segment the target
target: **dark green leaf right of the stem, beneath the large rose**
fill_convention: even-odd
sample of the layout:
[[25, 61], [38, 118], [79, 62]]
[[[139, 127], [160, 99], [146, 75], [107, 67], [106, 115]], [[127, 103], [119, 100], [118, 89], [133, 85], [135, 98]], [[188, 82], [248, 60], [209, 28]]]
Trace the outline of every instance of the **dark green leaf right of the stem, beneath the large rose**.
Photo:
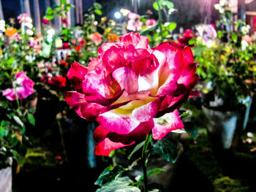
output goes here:
[[178, 158], [177, 145], [169, 139], [163, 138], [157, 141], [153, 146], [153, 150], [168, 162], [172, 161], [174, 163]]

